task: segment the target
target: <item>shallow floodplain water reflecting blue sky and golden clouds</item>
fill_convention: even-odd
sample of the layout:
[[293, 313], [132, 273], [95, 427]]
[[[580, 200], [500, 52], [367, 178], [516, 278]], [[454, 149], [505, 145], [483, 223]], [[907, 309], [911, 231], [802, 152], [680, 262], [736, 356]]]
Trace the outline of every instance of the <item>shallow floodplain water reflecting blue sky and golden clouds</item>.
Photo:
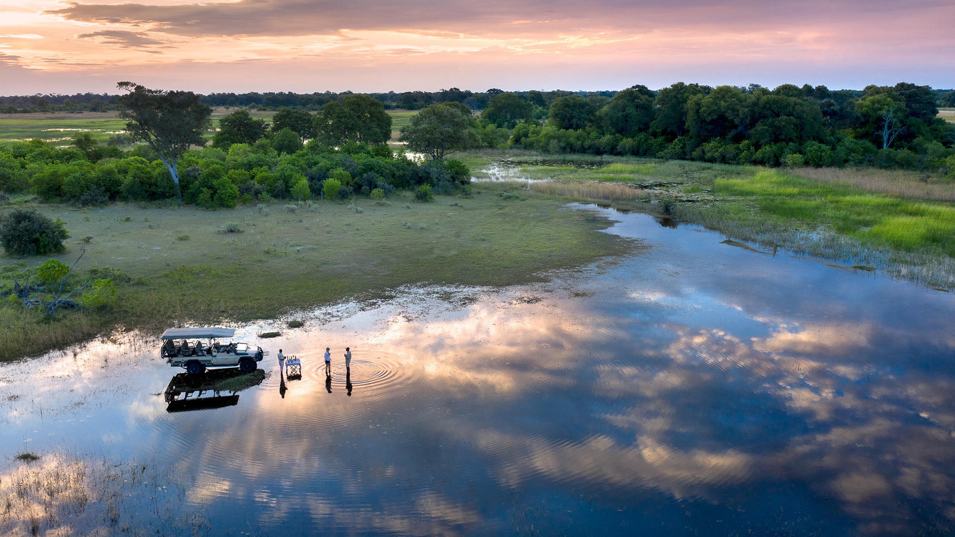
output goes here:
[[136, 333], [0, 367], [0, 533], [955, 531], [955, 297], [589, 208], [642, 246], [237, 327], [269, 375], [223, 408]]

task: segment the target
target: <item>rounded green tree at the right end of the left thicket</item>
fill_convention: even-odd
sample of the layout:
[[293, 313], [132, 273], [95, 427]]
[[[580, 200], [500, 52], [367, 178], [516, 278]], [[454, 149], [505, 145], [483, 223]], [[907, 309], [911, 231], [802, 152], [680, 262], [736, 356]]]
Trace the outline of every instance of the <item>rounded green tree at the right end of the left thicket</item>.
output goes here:
[[435, 161], [480, 143], [471, 111], [456, 102], [439, 102], [418, 112], [408, 125], [401, 127], [398, 140]]

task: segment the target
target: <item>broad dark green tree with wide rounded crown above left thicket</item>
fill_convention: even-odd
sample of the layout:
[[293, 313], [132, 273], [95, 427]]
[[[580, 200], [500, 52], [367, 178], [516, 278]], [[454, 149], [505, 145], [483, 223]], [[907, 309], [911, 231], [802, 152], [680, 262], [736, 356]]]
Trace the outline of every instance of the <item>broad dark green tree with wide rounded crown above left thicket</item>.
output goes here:
[[392, 117], [385, 105], [364, 95], [329, 102], [315, 115], [314, 126], [316, 137], [328, 145], [348, 141], [375, 145], [392, 138]]

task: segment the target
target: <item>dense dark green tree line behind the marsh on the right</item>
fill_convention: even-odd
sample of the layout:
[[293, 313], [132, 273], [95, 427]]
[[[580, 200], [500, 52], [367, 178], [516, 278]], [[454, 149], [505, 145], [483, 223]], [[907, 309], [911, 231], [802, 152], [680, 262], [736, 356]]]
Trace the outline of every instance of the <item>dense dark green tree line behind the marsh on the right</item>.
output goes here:
[[858, 92], [678, 82], [550, 102], [502, 93], [490, 99], [481, 121], [510, 129], [511, 146], [549, 153], [950, 171], [955, 124], [938, 113], [935, 92], [907, 82]]

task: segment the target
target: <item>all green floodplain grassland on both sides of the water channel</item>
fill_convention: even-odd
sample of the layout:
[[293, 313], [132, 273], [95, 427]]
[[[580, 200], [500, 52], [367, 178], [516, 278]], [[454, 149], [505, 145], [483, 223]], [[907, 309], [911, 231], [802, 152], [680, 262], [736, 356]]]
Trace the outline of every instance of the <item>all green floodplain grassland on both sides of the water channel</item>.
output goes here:
[[[414, 115], [392, 114], [395, 132]], [[77, 130], [105, 141], [122, 130], [112, 114], [22, 116], [28, 117], [0, 118], [0, 143], [41, 138], [66, 139], [66, 145]], [[519, 150], [453, 157], [474, 178], [494, 181], [475, 183], [469, 195], [435, 196], [434, 203], [416, 203], [410, 192], [400, 191], [379, 203], [356, 197], [221, 210], [170, 204], [84, 208], [11, 197], [0, 212], [31, 207], [65, 223], [68, 249], [53, 257], [73, 265], [83, 252], [77, 277], [109, 268], [126, 279], [105, 310], [46, 318], [38, 308], [5, 299], [0, 360], [42, 354], [117, 328], [160, 333], [172, 324], [291, 318], [342, 300], [387, 297], [403, 285], [538, 281], [548, 270], [612, 262], [645, 248], [598, 232], [610, 223], [568, 209], [570, 202], [646, 211], [722, 231], [750, 247], [783, 248], [846, 269], [955, 289], [955, 182], [941, 174]], [[47, 259], [4, 254], [0, 288], [22, 283]]]

